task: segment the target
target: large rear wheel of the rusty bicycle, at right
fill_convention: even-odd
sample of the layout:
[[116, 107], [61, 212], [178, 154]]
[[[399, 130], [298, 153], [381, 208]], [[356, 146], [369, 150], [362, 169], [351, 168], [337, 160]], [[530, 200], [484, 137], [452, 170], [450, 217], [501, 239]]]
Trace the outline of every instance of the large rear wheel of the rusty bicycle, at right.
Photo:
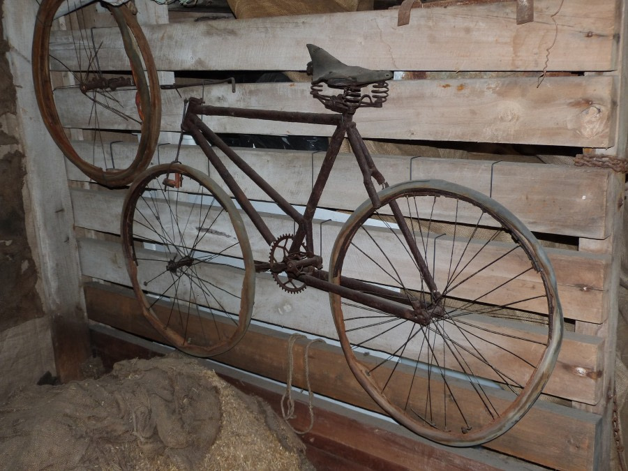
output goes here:
[[330, 294], [347, 362], [414, 433], [454, 446], [492, 440], [529, 410], [558, 356], [548, 257], [469, 188], [409, 181], [379, 195], [380, 207], [368, 200], [350, 216], [330, 260], [332, 283], [371, 299]]

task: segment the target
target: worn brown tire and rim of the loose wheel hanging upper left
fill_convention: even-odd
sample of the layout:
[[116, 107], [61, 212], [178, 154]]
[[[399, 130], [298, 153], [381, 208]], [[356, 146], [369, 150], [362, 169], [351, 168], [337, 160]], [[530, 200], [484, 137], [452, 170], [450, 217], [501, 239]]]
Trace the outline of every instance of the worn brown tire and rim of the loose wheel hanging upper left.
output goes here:
[[[130, 79], [126, 80], [124, 86], [111, 85], [108, 89], [87, 89], [93, 86], [94, 79], [108, 77], [103, 73], [106, 71], [99, 69], [98, 54], [104, 45], [94, 43], [92, 30], [79, 28], [71, 34], [77, 61], [74, 66], [66, 65], [63, 61], [52, 57], [50, 53], [50, 33], [55, 15], [61, 6], [67, 6], [68, 2], [69, 0], [44, 0], [38, 9], [33, 33], [32, 56], [33, 82], [40, 114], [59, 149], [84, 174], [105, 186], [124, 186], [133, 181], [135, 175], [149, 165], [159, 137], [161, 102], [154, 59], [144, 33], [128, 6], [107, 4], [121, 34], [128, 58], [128, 63], [120, 64], [119, 71], [130, 75]], [[71, 13], [67, 21], [70, 24], [77, 23], [79, 20], [83, 21], [85, 8], [90, 7], [85, 6]], [[54, 74], [60, 71], [58, 69], [69, 73], [69, 80], [75, 84], [54, 87], [53, 82], [58, 79]], [[67, 90], [61, 90], [61, 88]], [[85, 116], [82, 116], [81, 112], [71, 113], [72, 117], [68, 117], [71, 120], [70, 123], [65, 118], [61, 119], [60, 116], [68, 116], [68, 113], [59, 114], [54, 97], [55, 90], [77, 92], [73, 93], [73, 98], [71, 98], [74, 110], [81, 110], [84, 107], [82, 113]], [[128, 99], [134, 91], [135, 102], [138, 104], [135, 109], [133, 105], [130, 108], [122, 106], [121, 103], [125, 101], [124, 96]], [[123, 98], [120, 99], [119, 96]], [[63, 99], [57, 98], [57, 100]], [[66, 98], [67, 100], [70, 98]], [[99, 113], [105, 121], [110, 121], [106, 126], [102, 124], [106, 129], [100, 129]], [[117, 122], [118, 119], [119, 122]], [[117, 138], [111, 139], [103, 135], [104, 132], [111, 133], [124, 129], [123, 133], [118, 134], [121, 140], [132, 140], [133, 135], [127, 130], [129, 123], [135, 123], [132, 125], [133, 130], [140, 132], [137, 151], [130, 162], [121, 156], [114, 158], [112, 142], [117, 142]], [[67, 127], [86, 129], [84, 134], [91, 135], [91, 149], [89, 146], [87, 149], [76, 149], [75, 141], [68, 136]], [[116, 160], [118, 160], [117, 165]]]

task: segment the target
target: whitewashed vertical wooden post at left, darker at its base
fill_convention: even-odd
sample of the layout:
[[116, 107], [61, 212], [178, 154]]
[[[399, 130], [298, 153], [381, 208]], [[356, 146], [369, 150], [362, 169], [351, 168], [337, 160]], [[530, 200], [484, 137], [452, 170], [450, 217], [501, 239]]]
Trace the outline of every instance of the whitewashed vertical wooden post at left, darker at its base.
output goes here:
[[29, 243], [43, 308], [51, 319], [57, 376], [66, 382], [81, 377], [80, 365], [91, 355], [73, 211], [63, 155], [43, 125], [33, 91], [31, 44], [37, 2], [4, 1], [2, 7], [8, 60], [17, 85], [15, 123], [26, 156], [23, 193]]

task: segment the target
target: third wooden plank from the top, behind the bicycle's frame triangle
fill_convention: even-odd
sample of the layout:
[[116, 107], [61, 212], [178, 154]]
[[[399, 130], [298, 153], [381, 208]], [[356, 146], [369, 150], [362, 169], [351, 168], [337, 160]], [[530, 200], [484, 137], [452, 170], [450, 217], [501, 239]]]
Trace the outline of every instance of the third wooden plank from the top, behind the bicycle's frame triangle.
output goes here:
[[[80, 155], [91, 161], [89, 142], [74, 142]], [[137, 144], [117, 142], [105, 144], [107, 164], [114, 154], [117, 167], [130, 165]], [[264, 179], [293, 204], [306, 204], [312, 182], [320, 169], [323, 153], [271, 149], [237, 149]], [[172, 162], [177, 146], [160, 145], [153, 163]], [[446, 158], [412, 158], [402, 156], [373, 156], [389, 184], [409, 179], [442, 179], [468, 186], [492, 197], [535, 232], [604, 239], [610, 234], [609, 211], [615, 206], [609, 181], [610, 170], [576, 168], [562, 165], [454, 160]], [[200, 147], [184, 146], [179, 161], [207, 172], [220, 182]], [[268, 196], [257, 188], [229, 160], [223, 162], [234, 174], [251, 200], [267, 201]], [[102, 162], [96, 162], [104, 165]], [[87, 181], [87, 177], [73, 165], [66, 166], [69, 179]], [[282, 175], [278, 178], [278, 175]], [[224, 187], [225, 190], [228, 190]], [[327, 190], [320, 207], [353, 211], [364, 200], [366, 191], [362, 176], [352, 154], [340, 154], [334, 163]]]

